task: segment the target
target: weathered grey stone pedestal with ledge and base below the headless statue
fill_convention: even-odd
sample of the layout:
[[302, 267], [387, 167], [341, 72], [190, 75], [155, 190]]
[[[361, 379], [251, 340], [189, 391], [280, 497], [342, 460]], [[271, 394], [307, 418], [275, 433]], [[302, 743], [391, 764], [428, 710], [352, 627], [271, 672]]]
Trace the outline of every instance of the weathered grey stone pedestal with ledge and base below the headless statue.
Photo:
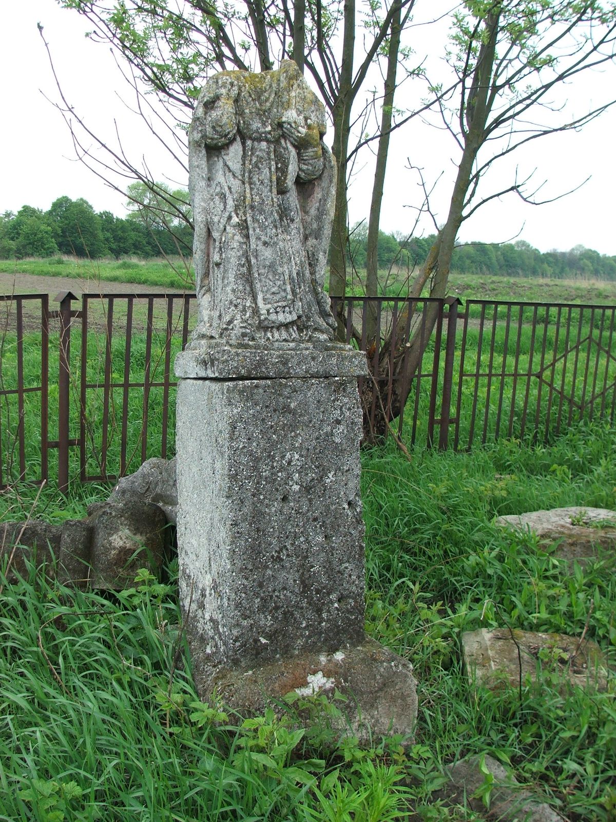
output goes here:
[[251, 713], [286, 684], [360, 700], [371, 683], [352, 727], [410, 731], [410, 663], [365, 644], [365, 357], [335, 344], [274, 355], [214, 346], [176, 361], [180, 596], [197, 688]]

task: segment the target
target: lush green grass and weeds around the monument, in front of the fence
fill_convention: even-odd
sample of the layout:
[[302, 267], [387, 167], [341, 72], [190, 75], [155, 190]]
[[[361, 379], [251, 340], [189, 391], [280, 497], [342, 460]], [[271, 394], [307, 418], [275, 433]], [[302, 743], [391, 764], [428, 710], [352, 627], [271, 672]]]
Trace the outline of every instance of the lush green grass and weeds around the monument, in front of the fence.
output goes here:
[[[538, 688], [492, 694], [469, 686], [460, 635], [497, 625], [586, 630], [614, 661], [613, 554], [571, 572], [554, 546], [492, 520], [552, 506], [614, 510], [615, 435], [580, 425], [535, 447], [416, 450], [409, 461], [388, 445], [363, 455], [366, 629], [410, 658], [420, 683], [406, 750], [399, 739], [365, 752], [334, 744], [327, 718], [343, 711], [339, 702], [315, 704], [304, 734], [297, 706], [242, 723], [223, 705], [200, 704], [175, 561], [165, 584], [144, 574], [117, 598], [40, 577], [5, 584], [0, 819], [471, 820], [433, 792], [444, 764], [487, 751], [568, 819], [614, 820], [614, 681], [605, 693], [567, 690], [548, 666]], [[2, 518], [27, 515], [34, 494], [2, 493]], [[44, 490], [40, 515], [83, 516], [104, 494], [77, 487], [64, 501]]]

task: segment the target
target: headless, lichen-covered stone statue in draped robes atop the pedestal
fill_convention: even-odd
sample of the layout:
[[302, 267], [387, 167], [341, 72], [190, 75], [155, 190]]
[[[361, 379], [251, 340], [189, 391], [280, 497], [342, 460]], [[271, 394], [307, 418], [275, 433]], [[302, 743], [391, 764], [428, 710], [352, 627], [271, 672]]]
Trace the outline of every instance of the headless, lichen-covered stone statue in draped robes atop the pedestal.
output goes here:
[[296, 64], [221, 72], [190, 131], [199, 321], [191, 348], [329, 341], [324, 293], [335, 163], [324, 106]]

